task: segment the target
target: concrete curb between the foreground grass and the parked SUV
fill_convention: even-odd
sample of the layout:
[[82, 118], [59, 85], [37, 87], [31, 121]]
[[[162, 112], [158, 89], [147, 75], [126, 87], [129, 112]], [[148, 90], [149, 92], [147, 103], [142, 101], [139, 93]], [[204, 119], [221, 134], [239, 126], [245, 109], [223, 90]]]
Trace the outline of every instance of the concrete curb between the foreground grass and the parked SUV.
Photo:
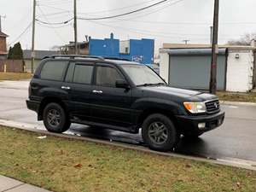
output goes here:
[[98, 143], [98, 144], [104, 144], [104, 145], [109, 145], [109, 146], [113, 146], [113, 147], [137, 150], [139, 152], [143, 152], [143, 153], [147, 153], [147, 154], [158, 154], [158, 155], [167, 156], [167, 157], [174, 157], [174, 158], [180, 158], [180, 159], [185, 159], [185, 160], [195, 160], [195, 161], [207, 162], [207, 163], [215, 164], [215, 165], [233, 166], [236, 168], [242, 168], [242, 169], [256, 171], [256, 162], [248, 161], [248, 160], [228, 160], [228, 159], [227, 160], [224, 160], [224, 159], [223, 160], [218, 160], [218, 159], [213, 160], [213, 159], [193, 157], [193, 156], [183, 155], [183, 154], [163, 153], [163, 152], [150, 150], [149, 148], [145, 148], [143, 146], [134, 146], [134, 145], [127, 144], [127, 143], [116, 143], [116, 142], [106, 141], [106, 140], [104, 141], [104, 140], [90, 138], [90, 137], [80, 137], [80, 136], [76, 136], [74, 134], [69, 135], [71, 132], [57, 134], [57, 133], [52, 133], [52, 132], [44, 131], [44, 130], [36, 130], [33, 125], [29, 125], [29, 124], [20, 125], [20, 123], [18, 123], [18, 122], [3, 120], [3, 119], [0, 119], [0, 125], [7, 126], [9, 128], [16, 128], [16, 129], [25, 130], [25, 131], [32, 131], [32, 132], [36, 132], [39, 134], [43, 134], [45, 136], [61, 137], [61, 138], [79, 140], [79, 141], [84, 141], [84, 142]]

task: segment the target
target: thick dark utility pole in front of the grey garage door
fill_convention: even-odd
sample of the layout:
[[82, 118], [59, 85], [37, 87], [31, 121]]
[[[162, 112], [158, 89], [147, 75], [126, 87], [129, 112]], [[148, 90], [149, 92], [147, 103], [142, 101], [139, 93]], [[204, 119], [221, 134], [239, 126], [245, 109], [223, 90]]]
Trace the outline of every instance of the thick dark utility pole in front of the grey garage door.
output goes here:
[[214, 3], [213, 16], [213, 37], [212, 37], [212, 63], [211, 63], [211, 79], [210, 79], [210, 93], [216, 94], [217, 90], [217, 58], [218, 58], [218, 9], [219, 0]]

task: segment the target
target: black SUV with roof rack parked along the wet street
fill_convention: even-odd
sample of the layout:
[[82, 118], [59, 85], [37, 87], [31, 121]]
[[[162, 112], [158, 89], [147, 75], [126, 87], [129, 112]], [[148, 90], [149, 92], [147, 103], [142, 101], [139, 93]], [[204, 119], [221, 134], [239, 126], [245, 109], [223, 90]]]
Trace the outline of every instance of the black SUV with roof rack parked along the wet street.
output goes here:
[[144, 142], [160, 151], [174, 148], [181, 135], [199, 137], [224, 122], [217, 96], [170, 87], [146, 65], [96, 56], [44, 58], [26, 104], [48, 131], [67, 131], [71, 123], [142, 128]]

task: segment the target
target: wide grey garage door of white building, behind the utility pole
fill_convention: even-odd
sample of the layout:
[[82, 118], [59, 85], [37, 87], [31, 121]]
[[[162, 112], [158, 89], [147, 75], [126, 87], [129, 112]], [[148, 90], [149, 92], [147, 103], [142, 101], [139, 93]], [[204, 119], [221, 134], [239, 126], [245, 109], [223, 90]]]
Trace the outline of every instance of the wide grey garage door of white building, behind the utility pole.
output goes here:
[[[177, 49], [170, 52], [169, 84], [187, 89], [208, 90], [211, 72], [211, 49]], [[225, 90], [226, 56], [220, 49], [217, 66], [217, 89]]]

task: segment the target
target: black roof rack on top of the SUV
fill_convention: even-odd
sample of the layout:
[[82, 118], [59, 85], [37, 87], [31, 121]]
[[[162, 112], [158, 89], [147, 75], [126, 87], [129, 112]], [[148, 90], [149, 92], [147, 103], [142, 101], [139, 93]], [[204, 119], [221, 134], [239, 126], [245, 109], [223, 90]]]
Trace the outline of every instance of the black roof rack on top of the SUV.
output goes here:
[[96, 56], [96, 55], [49, 55], [45, 56], [44, 59], [55, 59], [55, 58], [91, 58], [91, 59], [99, 59], [99, 60], [117, 60], [117, 61], [130, 61], [128, 59], [121, 59], [118, 57], [111, 57], [111, 56]]

